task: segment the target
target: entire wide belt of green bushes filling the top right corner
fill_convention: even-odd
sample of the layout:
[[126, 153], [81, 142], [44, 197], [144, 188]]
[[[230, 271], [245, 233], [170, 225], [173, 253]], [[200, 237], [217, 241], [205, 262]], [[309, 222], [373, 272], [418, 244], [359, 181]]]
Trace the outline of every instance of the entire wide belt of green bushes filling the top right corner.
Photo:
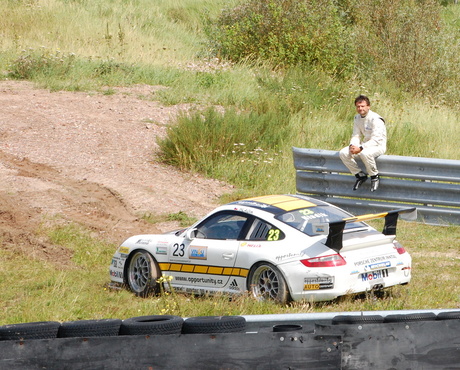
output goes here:
[[248, 0], [224, 10], [207, 35], [216, 55], [234, 62], [386, 80], [454, 105], [460, 43], [443, 12], [437, 0]]

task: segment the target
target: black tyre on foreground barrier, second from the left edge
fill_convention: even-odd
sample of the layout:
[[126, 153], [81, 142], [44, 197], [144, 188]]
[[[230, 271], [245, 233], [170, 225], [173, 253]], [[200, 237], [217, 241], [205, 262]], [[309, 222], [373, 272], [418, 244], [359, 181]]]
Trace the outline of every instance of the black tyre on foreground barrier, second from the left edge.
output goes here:
[[120, 326], [119, 319], [67, 321], [61, 324], [58, 338], [112, 337], [118, 335]]

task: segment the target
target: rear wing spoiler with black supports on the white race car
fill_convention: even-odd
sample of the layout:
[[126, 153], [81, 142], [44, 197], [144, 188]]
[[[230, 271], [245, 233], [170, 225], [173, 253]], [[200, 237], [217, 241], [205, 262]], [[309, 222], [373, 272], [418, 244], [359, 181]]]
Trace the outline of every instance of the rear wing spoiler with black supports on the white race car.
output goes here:
[[385, 226], [383, 227], [382, 234], [396, 235], [396, 225], [398, 223], [399, 215], [401, 215], [401, 218], [403, 220], [414, 221], [417, 219], [417, 208], [403, 208], [382, 213], [370, 213], [367, 215], [347, 217], [342, 219], [341, 221], [334, 222], [314, 222], [312, 223], [312, 226], [313, 231], [316, 234], [327, 235], [326, 246], [338, 253], [343, 247], [343, 230], [345, 230], [345, 225], [347, 223], [368, 221], [384, 217]]

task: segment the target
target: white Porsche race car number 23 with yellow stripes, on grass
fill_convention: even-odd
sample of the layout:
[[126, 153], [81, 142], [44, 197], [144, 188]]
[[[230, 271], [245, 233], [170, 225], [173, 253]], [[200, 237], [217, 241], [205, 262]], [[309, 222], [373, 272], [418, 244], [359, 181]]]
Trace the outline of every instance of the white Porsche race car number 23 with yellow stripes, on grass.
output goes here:
[[[110, 278], [142, 297], [159, 292], [160, 277], [166, 289], [283, 303], [380, 290], [411, 279], [411, 257], [395, 240], [399, 214], [414, 218], [416, 209], [355, 217], [303, 195], [239, 200], [187, 229], [128, 238]], [[383, 232], [364, 222], [380, 217]]]

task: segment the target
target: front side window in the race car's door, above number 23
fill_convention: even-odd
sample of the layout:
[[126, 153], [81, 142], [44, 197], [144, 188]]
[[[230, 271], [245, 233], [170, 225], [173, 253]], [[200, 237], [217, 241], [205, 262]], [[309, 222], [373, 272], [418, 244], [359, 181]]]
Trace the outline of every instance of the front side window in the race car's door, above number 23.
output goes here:
[[247, 217], [234, 212], [221, 212], [198, 225], [195, 235], [201, 239], [238, 239]]

